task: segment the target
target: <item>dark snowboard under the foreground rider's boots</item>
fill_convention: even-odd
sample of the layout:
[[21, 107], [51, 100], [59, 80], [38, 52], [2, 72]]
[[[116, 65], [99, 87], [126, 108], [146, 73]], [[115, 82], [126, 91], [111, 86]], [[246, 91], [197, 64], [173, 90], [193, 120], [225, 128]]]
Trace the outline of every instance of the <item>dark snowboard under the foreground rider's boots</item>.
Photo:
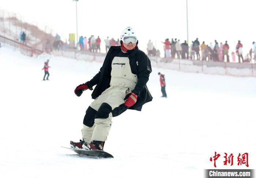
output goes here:
[[[62, 148], [67, 148], [67, 147], [62, 147]], [[114, 158], [114, 156], [112, 156], [111, 154], [101, 150], [86, 150], [86, 149], [78, 149], [78, 148], [67, 148], [67, 149], [70, 149], [80, 155], [86, 155], [88, 157]]]

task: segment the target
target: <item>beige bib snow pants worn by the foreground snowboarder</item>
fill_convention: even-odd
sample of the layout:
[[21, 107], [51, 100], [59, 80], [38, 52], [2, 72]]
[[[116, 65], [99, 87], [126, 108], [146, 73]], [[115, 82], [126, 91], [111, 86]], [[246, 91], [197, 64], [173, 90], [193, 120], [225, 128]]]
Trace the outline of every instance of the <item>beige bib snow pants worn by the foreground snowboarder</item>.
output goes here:
[[[123, 104], [125, 96], [134, 89], [138, 81], [137, 75], [131, 71], [128, 57], [114, 57], [111, 67], [110, 87], [90, 105], [97, 113], [101, 112], [102, 103], [110, 105], [112, 110]], [[110, 111], [107, 118], [95, 118], [92, 127], [83, 125], [83, 140], [87, 143], [91, 143], [92, 140], [106, 141], [112, 125], [112, 117]]]

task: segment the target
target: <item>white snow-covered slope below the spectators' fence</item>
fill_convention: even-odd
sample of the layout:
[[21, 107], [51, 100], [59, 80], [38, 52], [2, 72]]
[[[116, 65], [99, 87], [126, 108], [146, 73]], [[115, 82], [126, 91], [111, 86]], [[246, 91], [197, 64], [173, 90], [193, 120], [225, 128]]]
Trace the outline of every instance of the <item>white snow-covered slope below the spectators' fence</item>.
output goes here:
[[[102, 64], [52, 56], [50, 81], [42, 81], [46, 59], [0, 49], [0, 177], [198, 178], [214, 168], [215, 151], [217, 168], [247, 168], [237, 166], [245, 152], [255, 168], [255, 77], [153, 68], [153, 101], [113, 118], [104, 148], [114, 159], [91, 159], [61, 146], [81, 139], [93, 100], [91, 91], [77, 97], [74, 88]], [[168, 98], [160, 98], [158, 72]], [[233, 166], [223, 165], [225, 152], [235, 155]]]

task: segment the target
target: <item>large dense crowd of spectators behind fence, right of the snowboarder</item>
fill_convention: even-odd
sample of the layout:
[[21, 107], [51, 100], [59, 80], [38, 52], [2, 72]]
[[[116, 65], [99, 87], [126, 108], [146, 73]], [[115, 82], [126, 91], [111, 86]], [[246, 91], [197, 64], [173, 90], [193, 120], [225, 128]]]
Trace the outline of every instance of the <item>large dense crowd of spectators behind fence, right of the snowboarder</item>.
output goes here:
[[[250, 62], [252, 59], [256, 60], [256, 43], [253, 42], [253, 48], [250, 49], [249, 53], [243, 56], [243, 45], [240, 40], [236, 45], [236, 53], [231, 52], [231, 59], [229, 56], [229, 44], [227, 41], [223, 44], [219, 44], [217, 40], [214, 41], [214, 45], [210, 43], [207, 45], [204, 41], [200, 44], [198, 38], [191, 42], [189, 45], [185, 40], [183, 43], [180, 43], [180, 40], [165, 39], [163, 48], [165, 51], [165, 58], [182, 58], [190, 60], [207, 60], [207, 61], [226, 61], [236, 62], [236, 56], [238, 57], [238, 63]], [[200, 55], [201, 51], [201, 55]], [[252, 57], [252, 53], [254, 56]]]

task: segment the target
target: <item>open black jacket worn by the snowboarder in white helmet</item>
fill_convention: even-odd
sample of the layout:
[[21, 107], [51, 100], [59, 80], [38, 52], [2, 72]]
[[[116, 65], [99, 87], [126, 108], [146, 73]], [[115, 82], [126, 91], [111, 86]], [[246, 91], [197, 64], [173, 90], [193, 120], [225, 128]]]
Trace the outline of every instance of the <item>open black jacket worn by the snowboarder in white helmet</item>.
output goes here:
[[[92, 98], [95, 99], [103, 91], [110, 87], [111, 80], [111, 64], [112, 60], [118, 53], [121, 52], [120, 46], [111, 46], [106, 58], [103, 62], [103, 65], [100, 71], [89, 81], [91, 86], [96, 85], [93, 93], [91, 94]], [[129, 53], [129, 63], [131, 66], [132, 73], [138, 76], [138, 82], [132, 92], [138, 95], [137, 102], [131, 107], [125, 107], [120, 105], [120, 107], [115, 108], [112, 112], [113, 116], [123, 113], [126, 109], [134, 109], [141, 111], [142, 105], [147, 102], [152, 101], [153, 97], [151, 96], [146, 83], [148, 82], [149, 74], [152, 72], [151, 63], [147, 55], [139, 50], [138, 46], [134, 51]]]

